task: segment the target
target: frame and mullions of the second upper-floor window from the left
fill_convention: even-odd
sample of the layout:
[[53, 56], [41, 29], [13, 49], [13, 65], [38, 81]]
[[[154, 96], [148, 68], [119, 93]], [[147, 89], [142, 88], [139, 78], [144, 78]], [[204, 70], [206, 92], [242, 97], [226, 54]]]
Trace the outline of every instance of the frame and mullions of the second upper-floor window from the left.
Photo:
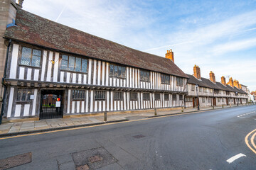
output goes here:
[[[65, 60], [68, 62], [68, 65], [67, 65], [67, 69], [64, 69], [63, 68], [63, 55], [65, 56], [68, 56], [68, 60]], [[70, 64], [70, 57], [75, 57], [75, 64], [74, 64], [74, 70], [70, 70], [70, 67], [69, 67], [69, 64]], [[80, 72], [78, 72], [76, 70], [76, 61], [77, 61], [77, 58], [79, 58], [81, 60], [81, 66], [80, 66]], [[65, 71], [65, 72], [75, 72], [75, 73], [80, 73], [80, 74], [88, 74], [88, 64], [89, 64], [89, 60], [85, 57], [78, 57], [78, 56], [75, 56], [75, 55], [66, 55], [66, 54], [60, 54], [60, 71]], [[82, 72], [82, 60], [86, 60], [86, 69], [85, 69], [85, 72]]]

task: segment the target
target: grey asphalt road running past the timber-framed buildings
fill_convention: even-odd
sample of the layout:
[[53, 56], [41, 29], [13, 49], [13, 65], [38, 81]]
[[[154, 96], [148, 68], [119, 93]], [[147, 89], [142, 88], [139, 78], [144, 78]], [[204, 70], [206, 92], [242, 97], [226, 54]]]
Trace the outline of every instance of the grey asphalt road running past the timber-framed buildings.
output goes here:
[[245, 144], [255, 129], [256, 106], [241, 106], [1, 139], [0, 159], [32, 153], [13, 169], [256, 169]]

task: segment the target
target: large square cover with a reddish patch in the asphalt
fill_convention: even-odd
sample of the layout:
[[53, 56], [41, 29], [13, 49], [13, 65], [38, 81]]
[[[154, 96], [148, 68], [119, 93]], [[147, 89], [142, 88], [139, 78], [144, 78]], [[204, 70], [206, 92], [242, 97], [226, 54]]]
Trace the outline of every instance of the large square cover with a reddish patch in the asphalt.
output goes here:
[[88, 166], [89, 169], [99, 169], [108, 164], [117, 162], [106, 149], [99, 147], [72, 154], [76, 169], [80, 166]]

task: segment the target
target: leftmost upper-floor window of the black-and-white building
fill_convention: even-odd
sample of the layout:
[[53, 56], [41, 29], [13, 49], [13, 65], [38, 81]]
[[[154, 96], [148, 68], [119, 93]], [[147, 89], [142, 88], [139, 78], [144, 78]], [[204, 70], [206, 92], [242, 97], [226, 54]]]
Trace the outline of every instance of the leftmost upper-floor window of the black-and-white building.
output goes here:
[[36, 50], [29, 47], [22, 47], [20, 64], [32, 67], [40, 67], [40, 63], [41, 50]]

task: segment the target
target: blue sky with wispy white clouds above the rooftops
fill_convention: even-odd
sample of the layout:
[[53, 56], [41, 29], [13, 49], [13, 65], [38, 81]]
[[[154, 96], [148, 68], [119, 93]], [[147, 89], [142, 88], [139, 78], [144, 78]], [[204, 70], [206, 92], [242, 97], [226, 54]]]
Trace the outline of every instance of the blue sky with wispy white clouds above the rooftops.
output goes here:
[[256, 0], [25, 0], [23, 9], [256, 90]]

